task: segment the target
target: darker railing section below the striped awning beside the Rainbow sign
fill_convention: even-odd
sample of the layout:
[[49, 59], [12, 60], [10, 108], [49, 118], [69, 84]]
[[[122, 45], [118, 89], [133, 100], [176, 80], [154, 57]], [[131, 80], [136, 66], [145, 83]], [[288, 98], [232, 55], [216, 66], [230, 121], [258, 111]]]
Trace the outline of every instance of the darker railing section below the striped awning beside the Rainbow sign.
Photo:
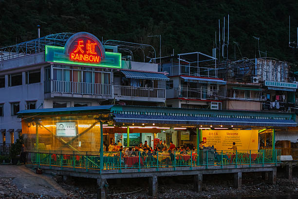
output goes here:
[[114, 96], [166, 98], [166, 89], [114, 85]]

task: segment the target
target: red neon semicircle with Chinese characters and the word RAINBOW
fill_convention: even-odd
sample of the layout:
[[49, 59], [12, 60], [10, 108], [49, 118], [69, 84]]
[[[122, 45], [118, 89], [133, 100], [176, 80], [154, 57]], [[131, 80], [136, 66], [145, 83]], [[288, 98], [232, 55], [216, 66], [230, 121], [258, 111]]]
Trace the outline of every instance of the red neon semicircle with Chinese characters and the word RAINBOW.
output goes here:
[[71, 47], [71, 60], [88, 63], [99, 63], [101, 60], [101, 51], [97, 43], [89, 38], [78, 38]]

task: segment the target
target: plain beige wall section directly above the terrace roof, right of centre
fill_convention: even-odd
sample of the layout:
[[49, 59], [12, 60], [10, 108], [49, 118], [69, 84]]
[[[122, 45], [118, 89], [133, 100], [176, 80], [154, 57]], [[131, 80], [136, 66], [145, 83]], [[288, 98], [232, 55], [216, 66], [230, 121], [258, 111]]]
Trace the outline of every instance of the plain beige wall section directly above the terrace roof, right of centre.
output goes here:
[[225, 102], [224, 108], [228, 110], [261, 111], [261, 102], [229, 100]]

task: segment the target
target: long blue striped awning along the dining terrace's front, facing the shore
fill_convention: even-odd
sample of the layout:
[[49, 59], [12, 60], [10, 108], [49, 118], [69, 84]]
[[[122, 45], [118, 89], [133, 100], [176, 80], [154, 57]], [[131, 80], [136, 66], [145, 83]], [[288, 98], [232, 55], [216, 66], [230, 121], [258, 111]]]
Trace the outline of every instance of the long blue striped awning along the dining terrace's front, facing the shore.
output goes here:
[[296, 122], [290, 119], [245, 119], [191, 116], [163, 116], [139, 114], [114, 114], [116, 122], [156, 123], [156, 124], [197, 124], [197, 125], [239, 125], [239, 126], [275, 126], [295, 127]]

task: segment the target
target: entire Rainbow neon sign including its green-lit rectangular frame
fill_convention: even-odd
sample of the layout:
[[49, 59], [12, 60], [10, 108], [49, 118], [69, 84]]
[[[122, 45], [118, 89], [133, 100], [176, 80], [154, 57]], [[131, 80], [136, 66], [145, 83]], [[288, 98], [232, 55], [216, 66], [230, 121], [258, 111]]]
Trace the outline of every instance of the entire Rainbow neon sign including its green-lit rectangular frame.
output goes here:
[[45, 60], [58, 63], [121, 68], [121, 53], [105, 52], [94, 35], [75, 33], [64, 47], [46, 46]]

